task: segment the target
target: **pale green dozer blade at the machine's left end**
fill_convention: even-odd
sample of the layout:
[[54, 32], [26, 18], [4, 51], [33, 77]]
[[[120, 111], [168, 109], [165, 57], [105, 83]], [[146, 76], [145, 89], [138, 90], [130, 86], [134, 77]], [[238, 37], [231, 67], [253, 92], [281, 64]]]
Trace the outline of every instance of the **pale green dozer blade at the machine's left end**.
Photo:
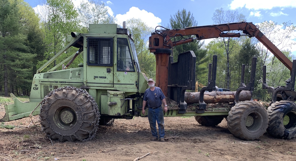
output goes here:
[[[0, 121], [12, 121], [28, 117], [39, 104], [39, 102], [21, 102], [12, 93], [10, 93], [10, 96], [12, 97], [14, 104], [4, 105], [6, 113]], [[38, 115], [39, 113], [40, 107], [38, 107], [32, 115]]]

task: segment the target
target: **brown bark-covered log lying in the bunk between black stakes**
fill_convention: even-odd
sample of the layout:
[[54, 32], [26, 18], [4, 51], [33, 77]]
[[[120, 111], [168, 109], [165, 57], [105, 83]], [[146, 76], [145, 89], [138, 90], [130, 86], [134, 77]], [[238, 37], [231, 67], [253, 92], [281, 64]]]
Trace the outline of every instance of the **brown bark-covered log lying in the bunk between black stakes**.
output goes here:
[[[206, 104], [234, 102], [236, 91], [231, 92], [205, 92], [204, 101]], [[250, 91], [241, 91], [239, 93], [239, 101], [250, 101], [252, 98]], [[184, 100], [187, 104], [199, 103], [200, 92], [185, 92]]]

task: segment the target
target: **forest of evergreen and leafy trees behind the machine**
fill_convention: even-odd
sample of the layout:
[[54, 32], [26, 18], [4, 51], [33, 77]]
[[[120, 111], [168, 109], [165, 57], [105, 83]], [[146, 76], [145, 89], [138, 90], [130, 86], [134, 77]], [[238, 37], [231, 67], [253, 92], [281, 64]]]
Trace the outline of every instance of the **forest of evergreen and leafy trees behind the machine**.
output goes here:
[[[44, 9], [37, 11], [23, 0], [0, 1], [0, 94], [9, 96], [29, 95], [33, 75], [36, 70], [56, 55], [67, 45], [70, 32], [88, 32], [90, 23], [115, 23], [116, 18], [108, 14], [102, 1], [82, 2], [77, 8], [71, 0], [47, 0]], [[169, 24], [165, 28], [184, 28], [197, 26], [192, 12], [182, 9], [171, 14]], [[246, 21], [246, 16], [237, 10], [216, 9], [212, 17], [213, 24], [224, 24]], [[118, 24], [121, 26], [121, 24]], [[287, 47], [295, 45], [289, 41], [296, 31], [292, 22], [264, 21], [259, 24], [260, 31], [276, 42], [277, 47], [290, 59], [295, 59]], [[133, 35], [141, 72], [148, 78], [155, 78], [155, 55], [148, 50], [148, 40], [155, 29], [149, 27], [141, 19], [128, 19], [126, 27]], [[285, 49], [285, 50], [283, 50]], [[48, 68], [61, 62], [78, 49], [71, 47]], [[267, 84], [284, 86], [290, 78], [290, 71], [256, 38], [216, 38], [208, 44], [194, 41], [179, 45], [173, 49], [174, 61], [179, 53], [192, 50], [196, 59], [196, 81], [207, 85], [208, 63], [213, 55], [218, 55], [216, 86], [236, 91], [240, 86], [241, 66], [246, 65], [244, 82], [250, 81], [252, 57], [257, 57], [255, 91], [253, 98], [269, 100], [270, 94], [262, 89], [263, 65], [267, 66]], [[78, 55], [70, 68], [82, 63], [82, 54]], [[46, 69], [44, 71], [47, 71]]]

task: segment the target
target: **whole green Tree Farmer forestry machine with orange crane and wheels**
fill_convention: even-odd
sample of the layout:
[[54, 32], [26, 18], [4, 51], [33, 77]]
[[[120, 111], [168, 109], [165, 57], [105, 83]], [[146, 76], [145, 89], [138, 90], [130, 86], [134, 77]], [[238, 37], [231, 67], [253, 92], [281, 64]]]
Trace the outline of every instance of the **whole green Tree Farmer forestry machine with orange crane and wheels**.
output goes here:
[[[239, 30], [242, 32], [229, 33]], [[184, 39], [182, 36], [195, 35]], [[209, 64], [207, 86], [190, 98], [186, 90], [195, 87], [196, 57], [192, 51], [178, 55], [173, 62], [172, 48], [176, 45], [216, 37], [256, 37], [289, 70], [286, 86], [269, 87], [266, 67], [263, 69], [263, 88], [272, 93], [270, 106], [264, 108], [256, 101], [241, 100], [244, 92], [254, 90], [256, 58], [252, 60], [250, 82], [244, 83], [242, 65], [241, 85], [236, 92], [216, 91], [217, 55]], [[182, 37], [179, 41], [175, 37]], [[112, 119], [132, 119], [141, 113], [143, 93], [148, 88], [147, 77], [141, 73], [134, 41], [125, 27], [117, 24], [89, 24], [89, 33], [71, 32], [69, 44], [37, 70], [33, 77], [29, 102], [19, 101], [11, 94], [14, 104], [5, 105], [6, 114], [0, 121], [11, 121], [40, 115], [43, 131], [51, 139], [86, 141], [92, 139], [99, 125]], [[78, 51], [47, 72], [41, 73], [69, 47]], [[194, 116], [204, 126], [216, 126], [227, 118], [229, 131], [240, 139], [254, 140], [266, 131], [276, 137], [291, 139], [296, 135], [295, 69], [293, 63], [265, 36], [248, 22], [218, 24], [184, 29], [155, 30], [149, 38], [149, 50], [156, 57], [156, 86], [169, 103], [164, 116]], [[68, 68], [78, 54], [83, 63]], [[67, 65], [63, 65], [67, 63]], [[57, 70], [60, 69], [61, 70]], [[213, 92], [205, 92], [213, 91]], [[193, 98], [198, 100], [189, 104]], [[187, 103], [187, 102], [188, 103]], [[227, 106], [223, 106], [228, 102]], [[213, 103], [216, 103], [213, 106]], [[40, 106], [39, 106], [40, 105]], [[147, 110], [147, 107], [146, 107]], [[148, 112], [146, 111], [146, 114]]]

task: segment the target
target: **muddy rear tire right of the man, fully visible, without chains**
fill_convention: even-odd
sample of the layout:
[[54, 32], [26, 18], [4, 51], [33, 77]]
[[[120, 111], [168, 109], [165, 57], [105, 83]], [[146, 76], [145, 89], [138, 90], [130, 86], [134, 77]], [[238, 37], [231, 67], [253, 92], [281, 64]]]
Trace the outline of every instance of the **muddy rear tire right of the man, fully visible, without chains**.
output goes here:
[[239, 139], [259, 139], [268, 127], [266, 109], [254, 101], [239, 102], [229, 111], [227, 126], [231, 134]]

